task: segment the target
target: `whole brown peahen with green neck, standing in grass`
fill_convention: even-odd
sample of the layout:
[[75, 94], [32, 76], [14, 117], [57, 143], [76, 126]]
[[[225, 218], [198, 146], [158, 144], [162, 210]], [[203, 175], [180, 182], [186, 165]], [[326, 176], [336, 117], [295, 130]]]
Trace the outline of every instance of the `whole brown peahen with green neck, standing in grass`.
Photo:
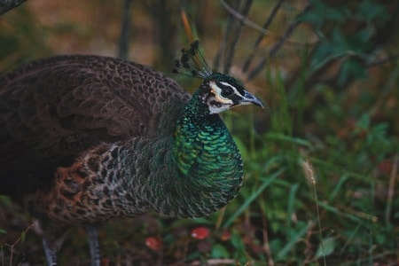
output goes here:
[[49, 265], [73, 224], [87, 227], [99, 265], [95, 224], [208, 215], [239, 192], [241, 156], [218, 113], [262, 102], [212, 73], [198, 42], [182, 52], [176, 72], [203, 79], [192, 97], [150, 67], [100, 56], [41, 59], [0, 77], [0, 194], [37, 219]]

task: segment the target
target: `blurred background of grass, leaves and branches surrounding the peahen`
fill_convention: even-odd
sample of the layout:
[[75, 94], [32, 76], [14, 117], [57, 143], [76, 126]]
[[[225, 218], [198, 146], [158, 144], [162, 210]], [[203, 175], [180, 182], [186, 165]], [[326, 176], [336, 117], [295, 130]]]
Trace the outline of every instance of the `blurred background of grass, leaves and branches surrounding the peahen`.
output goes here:
[[[0, 17], [0, 73], [51, 55], [120, 55], [195, 90], [171, 74], [189, 43], [182, 11], [209, 63], [268, 110], [223, 113], [245, 160], [237, 199], [200, 219], [106, 223], [103, 263], [399, 264], [396, 0], [31, 0]], [[1, 264], [43, 264], [27, 213], [0, 203]], [[60, 255], [89, 264], [82, 228]]]

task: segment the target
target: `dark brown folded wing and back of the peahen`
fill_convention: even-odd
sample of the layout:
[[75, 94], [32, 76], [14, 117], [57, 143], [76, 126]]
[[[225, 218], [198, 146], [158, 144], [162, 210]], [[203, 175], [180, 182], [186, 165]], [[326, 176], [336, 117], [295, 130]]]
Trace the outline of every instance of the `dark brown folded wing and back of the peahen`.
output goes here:
[[55, 168], [102, 142], [170, 134], [189, 99], [172, 79], [120, 59], [22, 66], [0, 77], [0, 193], [48, 183]]

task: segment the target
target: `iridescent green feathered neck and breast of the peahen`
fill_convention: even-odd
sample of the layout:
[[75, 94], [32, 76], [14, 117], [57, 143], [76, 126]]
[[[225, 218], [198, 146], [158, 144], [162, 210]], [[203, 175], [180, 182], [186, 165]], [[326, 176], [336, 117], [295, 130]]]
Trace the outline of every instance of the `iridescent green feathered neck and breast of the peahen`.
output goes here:
[[182, 209], [179, 216], [207, 215], [239, 192], [243, 176], [239, 149], [219, 115], [209, 113], [199, 91], [176, 123], [173, 161], [178, 172], [174, 185], [185, 191], [176, 205], [187, 205], [187, 213]]

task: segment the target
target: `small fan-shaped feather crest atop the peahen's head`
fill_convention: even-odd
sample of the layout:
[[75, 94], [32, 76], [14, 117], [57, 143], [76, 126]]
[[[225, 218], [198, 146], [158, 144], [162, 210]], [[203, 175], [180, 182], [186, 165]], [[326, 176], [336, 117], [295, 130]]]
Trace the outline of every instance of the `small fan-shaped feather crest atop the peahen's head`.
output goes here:
[[189, 49], [182, 49], [182, 56], [174, 62], [173, 72], [200, 77], [204, 80], [212, 75], [212, 70], [207, 66], [198, 40], [190, 44]]

